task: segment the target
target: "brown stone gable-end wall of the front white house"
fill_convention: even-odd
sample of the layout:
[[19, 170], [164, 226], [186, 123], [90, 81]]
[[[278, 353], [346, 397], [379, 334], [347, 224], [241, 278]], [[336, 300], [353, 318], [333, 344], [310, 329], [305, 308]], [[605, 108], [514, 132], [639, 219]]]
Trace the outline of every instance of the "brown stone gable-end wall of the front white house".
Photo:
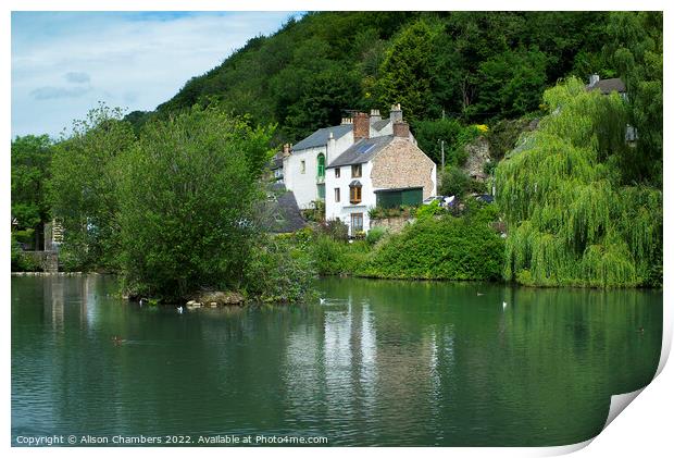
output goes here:
[[372, 161], [372, 186], [376, 189], [424, 188], [424, 199], [435, 194], [435, 164], [407, 138], [394, 140]]

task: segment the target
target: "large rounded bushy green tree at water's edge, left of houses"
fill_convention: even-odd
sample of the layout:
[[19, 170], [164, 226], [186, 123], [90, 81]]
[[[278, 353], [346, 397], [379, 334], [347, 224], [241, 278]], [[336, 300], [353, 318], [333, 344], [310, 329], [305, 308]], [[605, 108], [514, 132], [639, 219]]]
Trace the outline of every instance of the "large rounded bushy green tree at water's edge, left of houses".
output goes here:
[[177, 299], [203, 285], [245, 286], [270, 136], [214, 107], [145, 126], [114, 168], [129, 289]]

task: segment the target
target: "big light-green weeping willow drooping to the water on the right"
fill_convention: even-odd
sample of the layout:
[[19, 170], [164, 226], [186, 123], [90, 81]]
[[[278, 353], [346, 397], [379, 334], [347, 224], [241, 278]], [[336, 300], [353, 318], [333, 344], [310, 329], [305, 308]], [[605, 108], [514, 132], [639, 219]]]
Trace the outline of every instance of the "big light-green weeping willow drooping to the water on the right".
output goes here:
[[636, 149], [629, 104], [570, 79], [545, 92], [550, 113], [497, 171], [509, 227], [503, 275], [539, 286], [662, 282], [662, 191], [621, 185]]

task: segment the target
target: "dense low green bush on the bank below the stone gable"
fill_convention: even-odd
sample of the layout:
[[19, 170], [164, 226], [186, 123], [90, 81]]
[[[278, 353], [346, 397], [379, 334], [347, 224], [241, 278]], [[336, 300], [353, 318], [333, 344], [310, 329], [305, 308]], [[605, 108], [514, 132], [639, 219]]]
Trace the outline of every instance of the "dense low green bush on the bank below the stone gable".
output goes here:
[[419, 219], [377, 245], [357, 273], [384, 278], [496, 280], [503, 240], [490, 227], [490, 210], [462, 218]]

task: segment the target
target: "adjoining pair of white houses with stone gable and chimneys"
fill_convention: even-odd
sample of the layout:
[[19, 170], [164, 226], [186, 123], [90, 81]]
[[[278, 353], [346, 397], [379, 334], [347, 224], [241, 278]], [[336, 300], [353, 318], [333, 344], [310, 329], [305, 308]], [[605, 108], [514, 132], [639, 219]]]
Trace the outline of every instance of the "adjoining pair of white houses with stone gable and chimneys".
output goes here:
[[436, 189], [435, 164], [416, 146], [400, 104], [388, 119], [372, 110], [320, 128], [294, 147], [286, 145], [282, 157], [283, 172], [275, 176], [299, 208], [324, 200], [326, 219], [340, 219], [351, 235], [369, 230], [370, 208], [419, 205]]

